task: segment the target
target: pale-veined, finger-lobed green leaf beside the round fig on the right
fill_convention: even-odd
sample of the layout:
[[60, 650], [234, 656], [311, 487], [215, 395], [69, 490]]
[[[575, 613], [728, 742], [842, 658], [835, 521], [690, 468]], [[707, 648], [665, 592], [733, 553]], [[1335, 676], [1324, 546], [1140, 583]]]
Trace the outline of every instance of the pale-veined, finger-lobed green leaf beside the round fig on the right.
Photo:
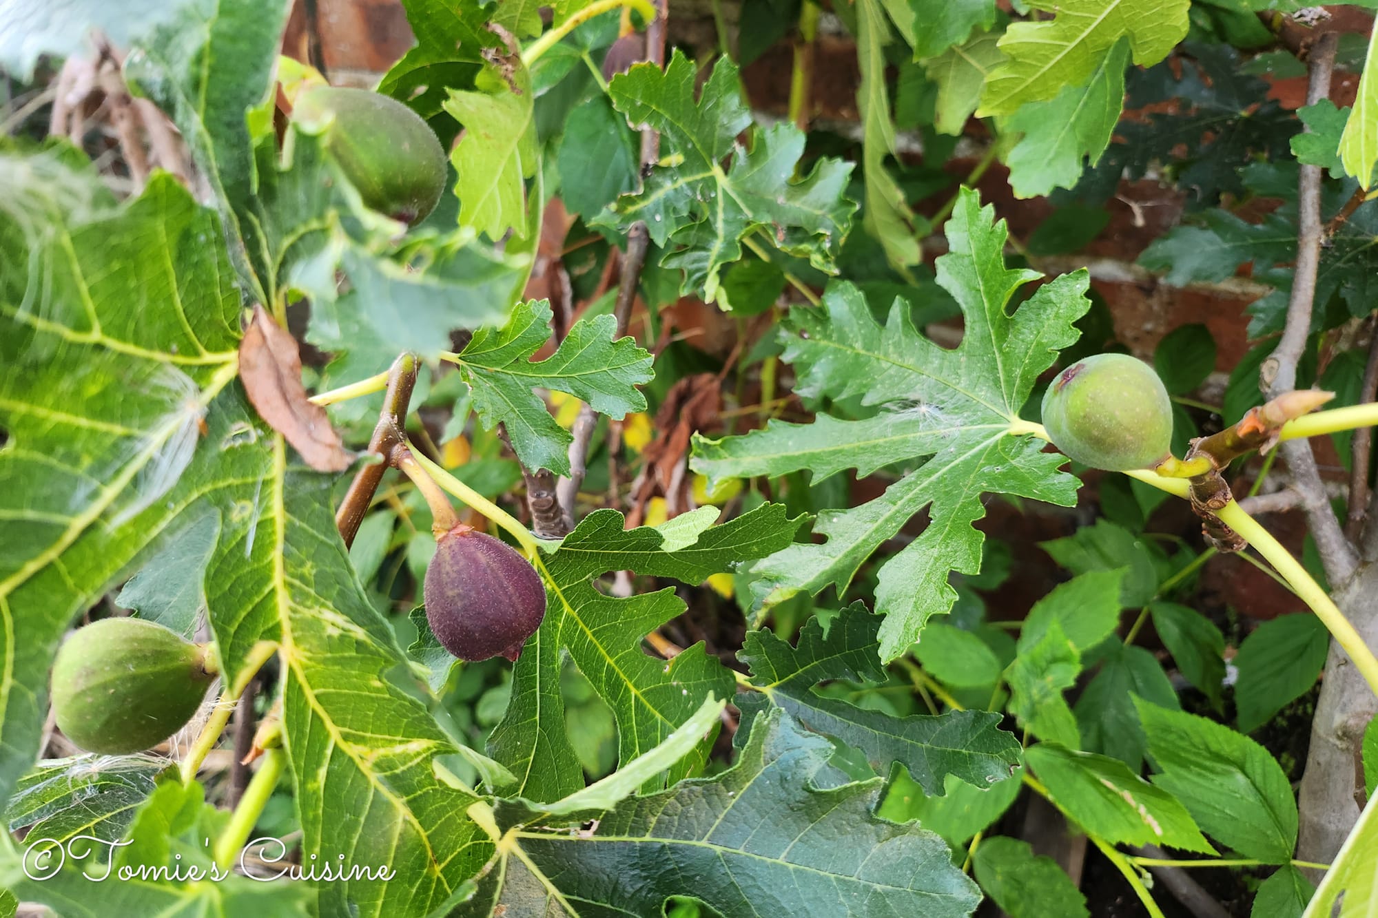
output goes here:
[[1013, 313], [1014, 291], [1038, 277], [1005, 267], [1003, 222], [963, 190], [947, 226], [949, 252], [937, 262], [938, 284], [962, 306], [966, 332], [955, 350], [919, 335], [897, 300], [881, 325], [861, 292], [835, 283], [824, 310], [796, 310], [781, 329], [784, 358], [794, 364], [808, 398], [856, 398], [872, 416], [820, 414], [812, 425], [772, 422], [745, 437], [695, 438], [690, 467], [711, 482], [779, 476], [799, 469], [816, 478], [843, 469], [868, 474], [883, 465], [927, 458], [886, 492], [849, 510], [820, 514], [816, 533], [827, 542], [794, 544], [754, 567], [769, 608], [798, 593], [847, 587], [882, 542], [927, 509], [923, 535], [879, 571], [876, 611], [881, 656], [893, 659], [929, 616], [956, 598], [948, 573], [976, 573], [984, 516], [981, 495], [1017, 493], [1051, 503], [1075, 502], [1075, 480], [1057, 471], [1064, 460], [1043, 453], [1042, 441], [1010, 436], [1034, 380], [1058, 349], [1076, 339], [1072, 323], [1086, 312], [1086, 274], [1065, 274], [1040, 287]]

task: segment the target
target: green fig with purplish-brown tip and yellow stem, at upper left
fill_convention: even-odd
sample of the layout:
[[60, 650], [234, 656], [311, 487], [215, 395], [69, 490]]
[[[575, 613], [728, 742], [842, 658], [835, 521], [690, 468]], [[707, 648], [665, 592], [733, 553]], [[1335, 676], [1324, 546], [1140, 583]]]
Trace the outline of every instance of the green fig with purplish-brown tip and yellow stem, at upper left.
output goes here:
[[298, 96], [292, 119], [333, 116], [327, 147], [371, 210], [416, 223], [445, 190], [445, 150], [409, 108], [349, 87], [313, 87]]

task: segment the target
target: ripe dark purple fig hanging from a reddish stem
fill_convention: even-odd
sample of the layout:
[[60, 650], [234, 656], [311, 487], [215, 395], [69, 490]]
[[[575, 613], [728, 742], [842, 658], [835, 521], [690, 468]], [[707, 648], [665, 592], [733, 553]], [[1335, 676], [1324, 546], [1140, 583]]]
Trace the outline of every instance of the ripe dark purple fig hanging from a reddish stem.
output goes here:
[[515, 549], [463, 524], [435, 542], [426, 569], [426, 620], [462, 660], [515, 660], [546, 618], [546, 587]]

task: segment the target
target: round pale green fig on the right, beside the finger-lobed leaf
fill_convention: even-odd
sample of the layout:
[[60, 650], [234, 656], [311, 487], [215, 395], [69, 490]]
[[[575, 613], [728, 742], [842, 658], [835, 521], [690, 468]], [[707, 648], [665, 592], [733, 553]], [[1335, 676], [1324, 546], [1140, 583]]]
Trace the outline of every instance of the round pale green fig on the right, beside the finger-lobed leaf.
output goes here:
[[1142, 360], [1097, 354], [1047, 387], [1043, 426], [1058, 451], [1093, 469], [1146, 469], [1170, 455], [1173, 402]]

